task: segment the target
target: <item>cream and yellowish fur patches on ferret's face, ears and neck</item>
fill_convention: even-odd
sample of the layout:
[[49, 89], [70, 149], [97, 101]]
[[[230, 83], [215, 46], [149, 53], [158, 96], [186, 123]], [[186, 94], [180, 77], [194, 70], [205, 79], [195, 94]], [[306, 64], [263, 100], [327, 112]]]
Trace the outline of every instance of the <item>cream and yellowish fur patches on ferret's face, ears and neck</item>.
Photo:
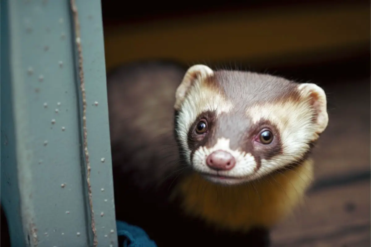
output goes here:
[[[219, 171], [219, 175], [240, 177], [240, 180], [239, 184], [221, 186], [194, 173], [178, 184], [173, 196], [180, 195], [186, 213], [203, 218], [216, 227], [242, 231], [253, 226], [272, 227], [301, 201], [311, 183], [311, 160], [290, 167], [292, 169], [287, 166], [298, 162], [309, 150], [308, 143], [316, 140], [318, 134], [325, 130], [328, 124], [326, 95], [315, 84], [298, 84], [302, 96], [299, 102], [288, 98], [286, 101], [266, 102], [246, 109], [247, 116], [254, 123], [267, 119], [276, 124], [283, 149], [282, 154], [270, 160], [262, 159], [261, 167], [256, 172], [254, 157], [250, 153], [231, 150], [229, 140], [222, 136], [214, 147], [199, 147], [191, 161], [187, 133], [198, 115], [206, 110], [216, 111], [217, 115], [228, 113], [236, 107], [215, 88], [204, 85], [203, 76], [213, 73], [210, 68], [195, 68], [202, 69], [198, 73], [201, 76], [189, 83], [186, 79], [194, 76], [186, 74], [182, 84], [186, 85], [183, 90], [187, 90], [187, 93], [177, 93], [181, 101], [177, 132], [185, 157], [196, 171], [215, 174], [206, 166], [207, 155], [217, 149], [229, 151], [236, 158], [236, 166], [230, 171]], [[191, 72], [195, 73], [194, 70]], [[315, 122], [313, 116], [318, 116]], [[285, 167], [285, 170], [277, 171]]]

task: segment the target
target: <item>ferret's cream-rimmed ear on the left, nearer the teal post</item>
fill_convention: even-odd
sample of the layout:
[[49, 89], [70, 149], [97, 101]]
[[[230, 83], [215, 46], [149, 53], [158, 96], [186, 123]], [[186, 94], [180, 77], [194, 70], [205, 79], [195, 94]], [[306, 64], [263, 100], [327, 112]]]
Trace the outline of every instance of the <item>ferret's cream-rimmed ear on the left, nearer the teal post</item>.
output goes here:
[[180, 110], [180, 107], [188, 93], [188, 90], [194, 84], [195, 81], [213, 76], [214, 71], [203, 64], [196, 64], [191, 66], [183, 77], [183, 81], [175, 92], [175, 104], [174, 109]]

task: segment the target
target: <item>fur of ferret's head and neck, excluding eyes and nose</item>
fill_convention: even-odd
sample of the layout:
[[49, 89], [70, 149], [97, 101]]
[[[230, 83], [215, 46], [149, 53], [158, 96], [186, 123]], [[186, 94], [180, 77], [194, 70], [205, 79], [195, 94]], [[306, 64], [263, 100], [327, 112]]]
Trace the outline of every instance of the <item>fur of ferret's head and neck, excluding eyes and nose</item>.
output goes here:
[[[182, 85], [177, 90], [177, 133], [184, 156], [197, 172], [180, 180], [174, 195], [189, 215], [216, 228], [274, 226], [296, 206], [312, 180], [308, 153], [328, 123], [323, 90], [247, 71], [213, 71], [204, 65], [189, 70], [187, 74], [199, 70], [203, 76], [186, 74], [182, 84], [188, 85], [183, 87], [187, 91], [179, 90]], [[207, 123], [202, 135], [194, 131], [201, 119]], [[273, 134], [269, 145], [256, 141], [265, 129]], [[207, 157], [216, 150], [232, 154], [236, 166], [227, 171], [209, 168]], [[214, 177], [207, 181], [202, 174]], [[217, 175], [224, 178], [218, 180]]]

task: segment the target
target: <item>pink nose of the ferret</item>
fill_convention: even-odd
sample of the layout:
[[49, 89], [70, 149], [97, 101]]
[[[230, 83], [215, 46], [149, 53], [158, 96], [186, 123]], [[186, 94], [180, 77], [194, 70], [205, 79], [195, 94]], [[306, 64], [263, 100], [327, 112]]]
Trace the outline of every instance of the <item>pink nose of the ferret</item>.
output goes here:
[[236, 165], [236, 160], [227, 151], [217, 150], [207, 156], [206, 164], [213, 170], [227, 171]]

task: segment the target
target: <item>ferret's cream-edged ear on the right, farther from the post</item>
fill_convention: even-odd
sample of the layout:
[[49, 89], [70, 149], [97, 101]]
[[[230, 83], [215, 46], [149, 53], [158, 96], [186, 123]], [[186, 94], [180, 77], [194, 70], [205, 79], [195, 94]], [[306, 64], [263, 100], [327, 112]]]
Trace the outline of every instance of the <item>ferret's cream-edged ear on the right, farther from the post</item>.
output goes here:
[[315, 121], [317, 127], [315, 133], [321, 134], [327, 127], [328, 114], [327, 114], [327, 100], [325, 91], [313, 83], [299, 84], [299, 90], [302, 96], [309, 100], [309, 104], [313, 107], [315, 114]]

